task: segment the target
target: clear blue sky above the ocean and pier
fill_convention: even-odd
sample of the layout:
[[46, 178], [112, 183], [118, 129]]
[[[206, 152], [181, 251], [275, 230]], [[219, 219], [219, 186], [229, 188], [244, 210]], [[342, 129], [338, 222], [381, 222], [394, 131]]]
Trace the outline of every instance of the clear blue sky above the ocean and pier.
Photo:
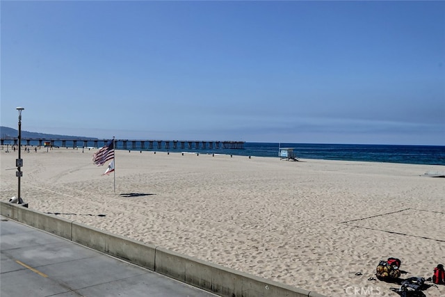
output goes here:
[[445, 1], [1, 1], [1, 125], [445, 145]]

